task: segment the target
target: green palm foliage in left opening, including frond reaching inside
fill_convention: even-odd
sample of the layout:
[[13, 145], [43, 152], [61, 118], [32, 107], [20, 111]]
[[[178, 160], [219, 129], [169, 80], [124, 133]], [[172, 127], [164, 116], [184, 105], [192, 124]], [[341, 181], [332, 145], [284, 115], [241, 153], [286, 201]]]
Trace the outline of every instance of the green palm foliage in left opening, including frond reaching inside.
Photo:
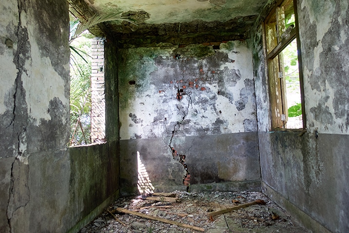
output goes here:
[[[111, 20], [128, 21], [133, 19], [121, 16], [122, 12], [95, 14], [86, 22], [71, 16], [69, 46], [71, 49], [71, 145], [91, 143], [91, 34], [84, 33], [92, 26]], [[136, 24], [135, 24], [136, 25]]]

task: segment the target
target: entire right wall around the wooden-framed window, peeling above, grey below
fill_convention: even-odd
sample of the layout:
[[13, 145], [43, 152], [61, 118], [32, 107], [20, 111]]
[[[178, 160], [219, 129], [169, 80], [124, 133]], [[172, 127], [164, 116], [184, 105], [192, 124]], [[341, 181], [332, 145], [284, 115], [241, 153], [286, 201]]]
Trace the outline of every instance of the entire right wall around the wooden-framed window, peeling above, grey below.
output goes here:
[[252, 36], [262, 189], [313, 232], [348, 232], [348, 1], [297, 0], [297, 8], [308, 130], [303, 136], [268, 132], [261, 21]]

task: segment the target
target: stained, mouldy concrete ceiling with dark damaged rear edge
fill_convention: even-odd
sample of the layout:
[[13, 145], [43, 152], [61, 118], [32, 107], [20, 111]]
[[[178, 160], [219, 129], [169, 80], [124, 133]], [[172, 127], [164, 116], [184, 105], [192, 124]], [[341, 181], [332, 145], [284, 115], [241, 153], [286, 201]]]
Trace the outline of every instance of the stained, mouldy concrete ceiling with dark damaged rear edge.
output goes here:
[[[246, 39], [268, 0], [68, 0], [73, 15], [122, 12], [136, 20], [109, 21], [94, 34], [110, 34], [125, 43], [192, 43]], [[147, 40], [147, 41], [145, 41]]]

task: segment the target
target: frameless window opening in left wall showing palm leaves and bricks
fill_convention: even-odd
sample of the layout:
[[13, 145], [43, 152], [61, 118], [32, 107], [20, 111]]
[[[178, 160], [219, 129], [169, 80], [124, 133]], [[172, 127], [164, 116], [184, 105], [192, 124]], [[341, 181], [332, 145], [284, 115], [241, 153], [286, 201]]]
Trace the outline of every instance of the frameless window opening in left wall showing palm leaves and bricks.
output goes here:
[[70, 15], [69, 146], [105, 141], [104, 39], [95, 39], [87, 30], [76, 36], [78, 23]]

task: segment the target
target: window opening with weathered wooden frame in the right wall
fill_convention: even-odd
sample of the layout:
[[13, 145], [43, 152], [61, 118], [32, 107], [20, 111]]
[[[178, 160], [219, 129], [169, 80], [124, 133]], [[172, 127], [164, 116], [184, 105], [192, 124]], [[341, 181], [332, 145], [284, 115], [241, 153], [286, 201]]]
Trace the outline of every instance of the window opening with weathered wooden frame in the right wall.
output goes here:
[[293, 0], [284, 0], [265, 20], [273, 128], [303, 128], [302, 78]]

